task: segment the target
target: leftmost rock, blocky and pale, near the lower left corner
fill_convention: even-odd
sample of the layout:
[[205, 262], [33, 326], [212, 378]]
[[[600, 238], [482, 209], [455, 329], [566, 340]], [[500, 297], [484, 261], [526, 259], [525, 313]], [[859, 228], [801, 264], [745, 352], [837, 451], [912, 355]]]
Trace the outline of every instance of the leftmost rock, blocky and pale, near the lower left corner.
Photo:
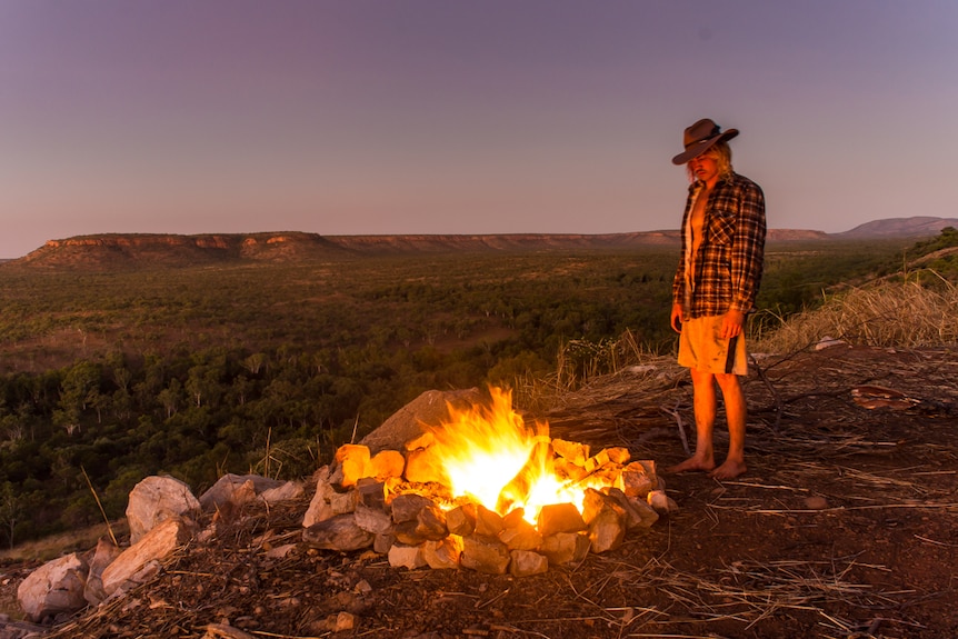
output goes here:
[[20, 582], [17, 601], [30, 621], [72, 615], [87, 607], [83, 590], [89, 567], [76, 552], [48, 561]]

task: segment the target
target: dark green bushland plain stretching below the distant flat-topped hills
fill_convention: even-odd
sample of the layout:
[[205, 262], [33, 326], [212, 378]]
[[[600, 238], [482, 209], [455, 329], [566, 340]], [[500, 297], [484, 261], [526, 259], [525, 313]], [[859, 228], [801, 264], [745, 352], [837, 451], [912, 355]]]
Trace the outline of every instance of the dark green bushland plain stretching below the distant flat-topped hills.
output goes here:
[[[921, 250], [769, 244], [759, 323], [772, 330]], [[633, 352], [669, 353], [677, 259], [649, 248], [112, 272], [7, 264], [0, 542], [98, 521], [87, 477], [121, 517], [149, 475], [198, 492], [223, 472], [306, 476], [429, 389], [512, 387], [555, 375], [560, 358], [573, 388], [621, 366], [609, 353], [622, 336]]]

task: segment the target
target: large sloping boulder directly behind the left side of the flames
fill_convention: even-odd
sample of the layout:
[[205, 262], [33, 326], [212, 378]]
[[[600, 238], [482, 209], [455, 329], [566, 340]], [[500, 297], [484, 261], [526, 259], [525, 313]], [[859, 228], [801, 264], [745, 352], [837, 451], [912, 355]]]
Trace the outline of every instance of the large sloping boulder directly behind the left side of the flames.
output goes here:
[[482, 395], [477, 388], [446, 392], [427, 390], [396, 411], [382, 426], [362, 438], [360, 443], [368, 446], [373, 455], [380, 450], [402, 450], [407, 441], [416, 439], [429, 427], [447, 422], [450, 405], [457, 410], [469, 410], [481, 403]]

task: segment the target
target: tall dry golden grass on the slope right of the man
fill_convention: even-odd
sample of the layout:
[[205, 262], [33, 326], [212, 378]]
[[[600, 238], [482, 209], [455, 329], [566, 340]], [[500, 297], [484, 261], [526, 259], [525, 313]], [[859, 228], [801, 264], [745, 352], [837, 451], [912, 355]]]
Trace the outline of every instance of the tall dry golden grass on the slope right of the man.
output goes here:
[[[826, 338], [854, 346], [895, 348], [958, 343], [958, 287], [944, 278], [936, 278], [935, 286], [929, 286], [922, 282], [921, 274], [899, 274], [834, 293], [820, 308], [784, 321], [770, 322], [768, 313], [758, 317], [750, 350], [797, 352]], [[777, 326], [767, 328], [771, 325]]]

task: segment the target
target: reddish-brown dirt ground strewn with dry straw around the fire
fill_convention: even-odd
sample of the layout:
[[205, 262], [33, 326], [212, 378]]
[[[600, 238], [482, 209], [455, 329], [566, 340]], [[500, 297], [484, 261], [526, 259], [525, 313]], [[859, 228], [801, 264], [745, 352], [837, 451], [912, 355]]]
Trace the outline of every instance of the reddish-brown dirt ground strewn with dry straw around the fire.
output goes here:
[[[245, 513], [49, 637], [958, 637], [956, 355], [839, 346], [760, 359], [746, 386], [748, 472], [663, 473], [680, 510], [580, 565], [515, 579], [301, 545], [268, 559], [301, 539], [306, 503], [293, 503]], [[636, 369], [541, 417], [553, 437], [627, 446], [663, 469], [685, 458], [680, 423], [693, 439], [686, 379]], [[856, 397], [864, 386], [902, 395]], [[9, 598], [24, 572], [0, 573]]]

